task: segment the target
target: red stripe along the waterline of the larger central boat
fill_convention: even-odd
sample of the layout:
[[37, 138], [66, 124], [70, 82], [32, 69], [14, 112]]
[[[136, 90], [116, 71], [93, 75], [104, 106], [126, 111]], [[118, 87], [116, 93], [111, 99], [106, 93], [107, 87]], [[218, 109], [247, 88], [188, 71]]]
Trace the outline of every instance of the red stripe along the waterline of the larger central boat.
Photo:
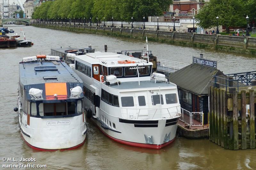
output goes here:
[[[93, 121], [91, 121], [93, 122]], [[121, 144], [126, 144], [126, 145], [130, 145], [130, 146], [135, 146], [135, 147], [140, 147], [140, 148], [148, 148], [148, 149], [161, 149], [164, 146], [171, 144], [175, 138], [173, 138], [171, 141], [166, 142], [164, 144], [141, 144], [141, 143], [135, 143], [135, 142], [128, 142], [128, 141], [124, 141], [124, 140], [120, 140], [120, 139], [116, 139], [114, 137], [109, 136], [107, 133], [105, 133], [95, 122], [93, 122], [103, 133], [104, 135], [106, 135], [107, 137], [109, 137], [110, 139], [112, 139], [115, 142], [121, 143]]]

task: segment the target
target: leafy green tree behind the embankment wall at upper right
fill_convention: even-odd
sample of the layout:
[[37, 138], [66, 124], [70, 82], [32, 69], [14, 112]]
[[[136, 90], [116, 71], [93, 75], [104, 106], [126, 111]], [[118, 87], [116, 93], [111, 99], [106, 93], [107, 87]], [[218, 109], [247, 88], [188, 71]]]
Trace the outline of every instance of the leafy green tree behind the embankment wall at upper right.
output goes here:
[[226, 28], [229, 33], [230, 26], [244, 26], [246, 19], [244, 17], [244, 1], [242, 0], [211, 0], [206, 3], [195, 16], [199, 21], [197, 25], [203, 28], [211, 28], [218, 24]]

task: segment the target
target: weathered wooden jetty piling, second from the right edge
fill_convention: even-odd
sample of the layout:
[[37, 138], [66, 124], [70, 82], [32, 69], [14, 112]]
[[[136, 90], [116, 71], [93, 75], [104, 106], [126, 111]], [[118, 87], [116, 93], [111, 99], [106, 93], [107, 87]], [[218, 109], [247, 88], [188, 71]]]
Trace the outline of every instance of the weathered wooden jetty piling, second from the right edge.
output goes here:
[[246, 93], [245, 90], [241, 90], [241, 112], [242, 112], [242, 149], [246, 149]]

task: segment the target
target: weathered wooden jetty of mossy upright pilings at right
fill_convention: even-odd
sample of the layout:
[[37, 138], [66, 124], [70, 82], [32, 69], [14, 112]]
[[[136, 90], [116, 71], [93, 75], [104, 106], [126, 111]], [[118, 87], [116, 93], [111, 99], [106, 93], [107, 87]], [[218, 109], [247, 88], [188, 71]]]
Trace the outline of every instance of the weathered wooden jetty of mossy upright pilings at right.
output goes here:
[[225, 149], [255, 148], [256, 86], [211, 86], [209, 100], [209, 140]]

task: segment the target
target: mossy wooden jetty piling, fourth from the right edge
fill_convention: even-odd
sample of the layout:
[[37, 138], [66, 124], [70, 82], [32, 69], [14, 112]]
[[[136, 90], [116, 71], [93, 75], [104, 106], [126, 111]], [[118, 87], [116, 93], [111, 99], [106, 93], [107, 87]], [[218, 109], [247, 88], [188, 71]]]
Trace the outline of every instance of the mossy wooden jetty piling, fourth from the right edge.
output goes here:
[[228, 149], [228, 99], [227, 99], [227, 91], [223, 92], [223, 140], [224, 140], [224, 148]]

